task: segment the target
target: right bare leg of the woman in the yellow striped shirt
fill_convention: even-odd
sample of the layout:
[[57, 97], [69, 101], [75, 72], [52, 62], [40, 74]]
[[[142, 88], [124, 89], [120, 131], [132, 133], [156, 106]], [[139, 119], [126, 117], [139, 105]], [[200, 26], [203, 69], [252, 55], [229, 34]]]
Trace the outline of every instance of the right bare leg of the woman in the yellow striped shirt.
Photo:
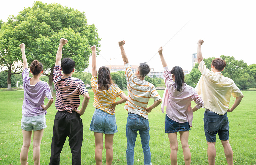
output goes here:
[[106, 164], [111, 165], [113, 161], [113, 139], [114, 134], [105, 134]]

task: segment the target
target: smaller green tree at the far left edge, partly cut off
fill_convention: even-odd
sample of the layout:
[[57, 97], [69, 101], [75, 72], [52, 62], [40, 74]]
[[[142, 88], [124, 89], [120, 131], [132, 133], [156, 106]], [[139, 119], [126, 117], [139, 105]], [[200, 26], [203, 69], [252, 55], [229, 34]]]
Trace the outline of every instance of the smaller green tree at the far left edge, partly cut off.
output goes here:
[[7, 89], [12, 89], [11, 75], [21, 73], [22, 68], [20, 42], [15, 37], [16, 25], [17, 22], [13, 21], [13, 17], [10, 17], [6, 23], [0, 21], [0, 66], [1, 71], [8, 73]]

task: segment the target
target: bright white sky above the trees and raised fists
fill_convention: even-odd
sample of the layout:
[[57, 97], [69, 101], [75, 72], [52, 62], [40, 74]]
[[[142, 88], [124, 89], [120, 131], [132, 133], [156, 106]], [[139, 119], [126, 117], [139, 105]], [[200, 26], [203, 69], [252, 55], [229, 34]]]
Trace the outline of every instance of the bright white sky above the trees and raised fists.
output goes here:
[[[247, 65], [256, 63], [256, 1], [81, 1], [42, 0], [60, 3], [85, 12], [88, 24], [98, 29], [100, 54], [111, 65], [123, 65], [119, 40], [125, 40], [125, 51], [131, 65], [148, 62], [160, 45], [168, 66], [191, 71], [192, 54], [202, 39], [203, 57], [235, 56]], [[33, 0], [1, 1], [0, 19], [18, 15]], [[98, 56], [97, 68], [109, 65]], [[112, 59], [111, 59], [112, 58]], [[115, 58], [115, 59], [113, 59]], [[111, 60], [110, 60], [111, 59]], [[90, 58], [91, 60], [91, 58]], [[163, 70], [157, 54], [149, 63]], [[91, 71], [91, 61], [88, 68]], [[86, 69], [86, 71], [88, 70]]]

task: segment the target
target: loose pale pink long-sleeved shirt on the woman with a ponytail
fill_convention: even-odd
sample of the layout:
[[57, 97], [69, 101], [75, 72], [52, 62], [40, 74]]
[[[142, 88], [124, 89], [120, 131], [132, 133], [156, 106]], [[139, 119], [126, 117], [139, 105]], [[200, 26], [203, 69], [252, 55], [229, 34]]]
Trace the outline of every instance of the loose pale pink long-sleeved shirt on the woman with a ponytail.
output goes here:
[[166, 114], [171, 120], [179, 123], [188, 122], [192, 126], [193, 111], [191, 107], [191, 101], [194, 100], [196, 108], [200, 109], [204, 106], [202, 98], [196, 93], [196, 90], [183, 84], [181, 91], [177, 91], [174, 87], [174, 81], [171, 78], [171, 71], [168, 67], [164, 67], [164, 83], [166, 90], [163, 95], [162, 112], [164, 112], [164, 106], [166, 106]]

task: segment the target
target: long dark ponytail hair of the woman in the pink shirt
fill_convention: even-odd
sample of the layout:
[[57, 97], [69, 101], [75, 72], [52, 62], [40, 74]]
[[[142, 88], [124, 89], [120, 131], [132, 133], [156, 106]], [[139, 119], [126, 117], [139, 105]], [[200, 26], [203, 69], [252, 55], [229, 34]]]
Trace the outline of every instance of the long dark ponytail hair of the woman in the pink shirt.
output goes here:
[[181, 91], [182, 84], [185, 84], [184, 80], [184, 72], [181, 67], [173, 67], [171, 70], [171, 74], [175, 76], [175, 84], [174, 87], [177, 89], [177, 91]]

